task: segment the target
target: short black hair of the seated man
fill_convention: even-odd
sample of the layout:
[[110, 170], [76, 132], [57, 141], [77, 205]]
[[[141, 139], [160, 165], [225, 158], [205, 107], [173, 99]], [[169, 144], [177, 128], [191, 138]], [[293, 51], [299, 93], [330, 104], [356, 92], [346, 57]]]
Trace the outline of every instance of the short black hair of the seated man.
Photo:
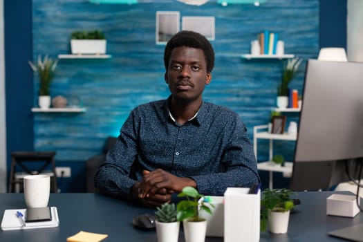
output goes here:
[[164, 65], [166, 70], [169, 66], [171, 51], [173, 51], [174, 48], [181, 46], [202, 49], [205, 57], [205, 63], [207, 63], [207, 72], [212, 72], [214, 67], [214, 50], [212, 44], [210, 44], [210, 41], [208, 41], [203, 35], [189, 30], [183, 30], [176, 33], [167, 42], [167, 46], [165, 46], [164, 51]]

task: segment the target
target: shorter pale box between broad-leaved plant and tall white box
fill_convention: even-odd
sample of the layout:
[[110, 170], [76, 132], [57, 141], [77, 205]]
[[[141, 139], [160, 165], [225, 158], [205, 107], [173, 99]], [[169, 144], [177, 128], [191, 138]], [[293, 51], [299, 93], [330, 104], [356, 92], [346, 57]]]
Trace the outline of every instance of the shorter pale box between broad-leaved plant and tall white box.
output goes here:
[[202, 217], [207, 219], [206, 236], [223, 237], [224, 234], [224, 196], [210, 196], [212, 214], [203, 212]]

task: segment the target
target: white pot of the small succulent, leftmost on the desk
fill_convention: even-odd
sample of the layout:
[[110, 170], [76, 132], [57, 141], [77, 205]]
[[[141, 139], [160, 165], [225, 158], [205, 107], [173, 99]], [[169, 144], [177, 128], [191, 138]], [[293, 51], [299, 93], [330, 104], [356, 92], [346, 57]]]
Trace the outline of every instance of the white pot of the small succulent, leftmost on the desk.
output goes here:
[[180, 222], [162, 223], [156, 221], [158, 242], [178, 242]]

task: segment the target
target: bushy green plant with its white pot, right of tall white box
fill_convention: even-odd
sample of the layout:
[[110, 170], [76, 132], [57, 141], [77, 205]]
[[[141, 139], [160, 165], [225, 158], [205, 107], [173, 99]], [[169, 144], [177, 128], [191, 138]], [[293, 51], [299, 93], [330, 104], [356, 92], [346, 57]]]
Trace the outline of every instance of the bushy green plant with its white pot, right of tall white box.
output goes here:
[[288, 232], [288, 220], [294, 201], [291, 196], [295, 192], [290, 189], [265, 189], [261, 200], [261, 231], [266, 231], [267, 221], [271, 233], [285, 234]]

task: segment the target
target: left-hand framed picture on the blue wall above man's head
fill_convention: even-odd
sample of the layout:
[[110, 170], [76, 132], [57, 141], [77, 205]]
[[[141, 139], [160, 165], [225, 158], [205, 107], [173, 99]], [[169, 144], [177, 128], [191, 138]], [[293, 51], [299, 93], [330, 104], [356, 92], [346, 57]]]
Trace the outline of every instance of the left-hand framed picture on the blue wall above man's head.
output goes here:
[[180, 12], [157, 11], [155, 29], [156, 44], [167, 44], [180, 30]]

